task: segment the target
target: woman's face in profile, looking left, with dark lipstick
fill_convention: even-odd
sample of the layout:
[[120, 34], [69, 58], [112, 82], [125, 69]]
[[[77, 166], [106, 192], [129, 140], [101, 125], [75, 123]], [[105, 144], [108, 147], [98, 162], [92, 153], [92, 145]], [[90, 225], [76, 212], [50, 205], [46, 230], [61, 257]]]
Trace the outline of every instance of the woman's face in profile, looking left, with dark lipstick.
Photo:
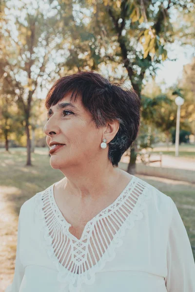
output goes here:
[[[102, 128], [95, 127], [91, 114], [83, 108], [80, 98], [74, 102], [70, 101], [70, 96], [71, 93], [66, 94], [50, 108], [49, 120], [43, 128], [48, 146], [51, 142], [65, 144], [51, 153], [50, 164], [55, 169], [98, 161], [101, 149]], [[63, 103], [73, 106], [62, 108]]]

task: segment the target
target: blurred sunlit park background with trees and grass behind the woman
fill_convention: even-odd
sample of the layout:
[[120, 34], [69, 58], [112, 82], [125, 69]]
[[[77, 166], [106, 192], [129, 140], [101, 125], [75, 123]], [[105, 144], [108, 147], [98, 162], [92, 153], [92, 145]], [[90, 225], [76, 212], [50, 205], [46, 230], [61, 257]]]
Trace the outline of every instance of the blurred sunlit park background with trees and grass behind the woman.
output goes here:
[[20, 207], [63, 175], [49, 164], [44, 100], [94, 70], [132, 86], [141, 126], [119, 167], [176, 203], [195, 255], [194, 0], [0, 1], [0, 285], [12, 282]]

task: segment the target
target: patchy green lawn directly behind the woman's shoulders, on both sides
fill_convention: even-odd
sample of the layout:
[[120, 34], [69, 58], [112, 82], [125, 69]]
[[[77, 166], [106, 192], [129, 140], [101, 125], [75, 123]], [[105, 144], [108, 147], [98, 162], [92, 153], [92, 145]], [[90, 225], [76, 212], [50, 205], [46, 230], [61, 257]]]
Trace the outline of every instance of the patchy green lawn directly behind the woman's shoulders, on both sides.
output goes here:
[[[49, 164], [48, 148], [36, 148], [33, 166], [25, 166], [26, 149], [0, 149], [0, 282], [2, 288], [11, 283], [14, 274], [17, 226], [20, 207], [37, 192], [63, 178]], [[176, 203], [191, 245], [195, 246], [195, 185], [169, 179], [137, 177], [154, 185]]]

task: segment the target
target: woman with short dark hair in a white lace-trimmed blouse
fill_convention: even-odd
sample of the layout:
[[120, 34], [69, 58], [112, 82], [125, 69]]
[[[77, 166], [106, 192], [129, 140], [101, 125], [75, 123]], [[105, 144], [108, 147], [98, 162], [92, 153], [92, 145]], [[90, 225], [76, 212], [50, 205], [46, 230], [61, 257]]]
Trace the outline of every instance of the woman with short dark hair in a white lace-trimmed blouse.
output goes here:
[[190, 241], [174, 201], [120, 170], [140, 100], [98, 73], [47, 94], [50, 164], [64, 178], [21, 209], [6, 292], [195, 292]]

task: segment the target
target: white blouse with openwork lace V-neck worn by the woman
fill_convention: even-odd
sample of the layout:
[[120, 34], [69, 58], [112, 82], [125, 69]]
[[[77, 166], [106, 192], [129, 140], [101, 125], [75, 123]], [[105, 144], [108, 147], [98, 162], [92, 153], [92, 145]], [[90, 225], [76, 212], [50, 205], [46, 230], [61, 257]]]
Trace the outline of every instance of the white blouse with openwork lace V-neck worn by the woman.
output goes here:
[[195, 262], [174, 201], [133, 176], [69, 232], [54, 184], [20, 208], [13, 282], [5, 292], [195, 292]]

